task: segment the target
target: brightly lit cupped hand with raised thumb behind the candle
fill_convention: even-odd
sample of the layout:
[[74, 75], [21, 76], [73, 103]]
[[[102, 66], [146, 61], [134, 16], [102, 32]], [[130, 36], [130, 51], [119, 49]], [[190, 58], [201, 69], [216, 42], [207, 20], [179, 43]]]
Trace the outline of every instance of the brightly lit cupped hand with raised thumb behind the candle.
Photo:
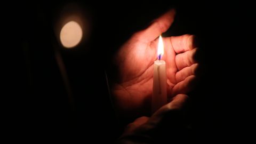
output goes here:
[[[170, 10], [145, 30], [135, 33], [117, 52], [118, 77], [111, 87], [114, 105], [122, 118], [149, 116], [153, 87], [153, 65], [157, 59], [158, 37], [171, 26], [175, 11]], [[163, 38], [167, 91], [173, 96], [193, 88], [197, 49], [193, 35]]]

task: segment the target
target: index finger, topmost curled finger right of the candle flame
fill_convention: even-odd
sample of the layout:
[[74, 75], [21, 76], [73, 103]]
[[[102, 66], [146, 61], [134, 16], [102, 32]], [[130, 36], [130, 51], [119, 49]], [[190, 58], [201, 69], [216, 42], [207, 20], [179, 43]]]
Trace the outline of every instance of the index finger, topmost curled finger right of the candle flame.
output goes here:
[[176, 53], [183, 53], [196, 47], [194, 35], [172, 36], [171, 43]]

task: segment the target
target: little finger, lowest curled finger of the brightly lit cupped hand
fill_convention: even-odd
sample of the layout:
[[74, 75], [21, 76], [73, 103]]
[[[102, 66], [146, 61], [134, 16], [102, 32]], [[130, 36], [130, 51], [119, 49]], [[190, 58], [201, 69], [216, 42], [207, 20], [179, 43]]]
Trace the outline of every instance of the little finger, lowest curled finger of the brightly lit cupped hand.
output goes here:
[[177, 95], [177, 94], [188, 93], [195, 86], [195, 82], [196, 82], [196, 76], [195, 75], [188, 76], [187, 78], [184, 79], [184, 81], [181, 81], [181, 82], [177, 83], [173, 87], [171, 95], [174, 96], [174, 95]]

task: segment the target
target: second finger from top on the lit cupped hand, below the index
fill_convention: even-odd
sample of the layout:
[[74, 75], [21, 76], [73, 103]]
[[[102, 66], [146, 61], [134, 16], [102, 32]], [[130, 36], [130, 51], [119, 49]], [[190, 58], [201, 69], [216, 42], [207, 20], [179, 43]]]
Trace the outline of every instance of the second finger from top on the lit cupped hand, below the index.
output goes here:
[[177, 54], [175, 57], [175, 62], [178, 70], [181, 70], [185, 67], [189, 67], [196, 63], [195, 56], [197, 53], [197, 48], [186, 51], [185, 53]]

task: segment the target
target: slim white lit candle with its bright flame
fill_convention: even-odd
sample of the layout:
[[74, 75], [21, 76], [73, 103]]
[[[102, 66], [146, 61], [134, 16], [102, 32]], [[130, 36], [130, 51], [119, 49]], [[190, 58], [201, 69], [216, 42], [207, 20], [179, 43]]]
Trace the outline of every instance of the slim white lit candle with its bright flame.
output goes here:
[[166, 67], [165, 61], [161, 60], [164, 54], [164, 45], [162, 37], [159, 36], [157, 60], [154, 62], [153, 74], [153, 95], [152, 95], [152, 113], [167, 103], [166, 89]]

